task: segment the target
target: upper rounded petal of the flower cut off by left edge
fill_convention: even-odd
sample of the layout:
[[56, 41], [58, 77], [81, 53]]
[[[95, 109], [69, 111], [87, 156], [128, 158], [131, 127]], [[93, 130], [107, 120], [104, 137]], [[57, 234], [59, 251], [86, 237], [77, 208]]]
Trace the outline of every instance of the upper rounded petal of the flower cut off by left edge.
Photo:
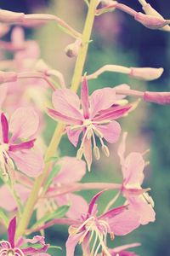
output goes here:
[[13, 113], [9, 129], [13, 133], [12, 141], [18, 137], [31, 137], [37, 131], [39, 118], [33, 108], [18, 108]]

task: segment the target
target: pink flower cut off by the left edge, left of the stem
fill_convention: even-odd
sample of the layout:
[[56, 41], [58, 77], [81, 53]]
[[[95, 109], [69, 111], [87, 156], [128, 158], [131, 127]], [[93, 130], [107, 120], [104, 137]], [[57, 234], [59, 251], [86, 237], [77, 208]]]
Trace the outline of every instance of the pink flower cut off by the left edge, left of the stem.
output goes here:
[[[42, 155], [31, 150], [35, 139], [29, 139], [37, 132], [38, 125], [37, 113], [32, 108], [16, 109], [9, 122], [5, 114], [1, 113], [0, 166], [5, 177], [8, 177], [11, 168], [14, 170], [14, 163], [30, 177], [37, 177], [42, 172]], [[27, 140], [23, 142], [23, 138]]]

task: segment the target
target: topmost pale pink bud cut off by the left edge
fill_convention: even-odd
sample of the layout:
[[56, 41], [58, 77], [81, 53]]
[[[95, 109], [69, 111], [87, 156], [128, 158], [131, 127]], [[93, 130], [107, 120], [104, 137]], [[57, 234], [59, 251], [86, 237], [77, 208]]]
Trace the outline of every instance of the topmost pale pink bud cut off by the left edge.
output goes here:
[[5, 9], [0, 9], [0, 21], [6, 23], [23, 22], [25, 18], [24, 13], [14, 13]]

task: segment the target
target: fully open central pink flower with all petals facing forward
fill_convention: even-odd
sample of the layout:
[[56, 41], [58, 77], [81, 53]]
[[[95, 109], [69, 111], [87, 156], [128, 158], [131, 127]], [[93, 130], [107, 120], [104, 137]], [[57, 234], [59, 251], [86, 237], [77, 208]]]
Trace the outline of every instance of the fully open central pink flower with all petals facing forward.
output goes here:
[[114, 119], [127, 113], [130, 106], [114, 106], [116, 100], [114, 88], [95, 90], [91, 96], [88, 96], [86, 79], [82, 82], [81, 99], [69, 89], [54, 91], [52, 97], [54, 109], [48, 109], [48, 113], [67, 125], [67, 136], [75, 147], [82, 133], [82, 143], [77, 151], [77, 158], [81, 159], [84, 154], [88, 170], [92, 163], [92, 141], [94, 156], [97, 160], [100, 157], [95, 136], [99, 138], [102, 150], [107, 156], [109, 156], [109, 149], [104, 139], [109, 143], [116, 143], [120, 136], [121, 126]]

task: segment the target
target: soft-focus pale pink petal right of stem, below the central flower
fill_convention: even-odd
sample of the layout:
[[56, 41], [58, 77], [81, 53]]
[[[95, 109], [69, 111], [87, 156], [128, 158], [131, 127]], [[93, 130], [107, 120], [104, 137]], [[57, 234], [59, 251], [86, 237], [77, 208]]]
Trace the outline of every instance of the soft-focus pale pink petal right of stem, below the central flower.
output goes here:
[[65, 156], [59, 160], [61, 169], [54, 178], [54, 183], [75, 183], [82, 179], [86, 173], [86, 164], [83, 160], [77, 160], [76, 157]]

